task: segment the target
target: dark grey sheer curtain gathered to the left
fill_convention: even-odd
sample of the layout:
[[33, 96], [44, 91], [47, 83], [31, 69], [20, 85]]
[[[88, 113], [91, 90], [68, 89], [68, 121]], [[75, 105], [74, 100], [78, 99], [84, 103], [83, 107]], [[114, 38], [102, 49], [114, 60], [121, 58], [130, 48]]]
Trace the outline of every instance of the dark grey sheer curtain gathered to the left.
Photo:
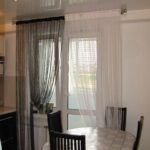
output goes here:
[[51, 100], [59, 71], [63, 28], [64, 19], [17, 24], [19, 150], [34, 150], [32, 105], [39, 109]]

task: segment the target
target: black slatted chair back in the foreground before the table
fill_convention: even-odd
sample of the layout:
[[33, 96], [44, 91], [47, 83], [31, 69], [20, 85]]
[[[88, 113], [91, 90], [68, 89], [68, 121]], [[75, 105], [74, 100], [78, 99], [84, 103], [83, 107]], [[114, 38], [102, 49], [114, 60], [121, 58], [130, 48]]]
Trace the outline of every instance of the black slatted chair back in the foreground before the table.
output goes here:
[[85, 135], [50, 131], [50, 150], [85, 150]]

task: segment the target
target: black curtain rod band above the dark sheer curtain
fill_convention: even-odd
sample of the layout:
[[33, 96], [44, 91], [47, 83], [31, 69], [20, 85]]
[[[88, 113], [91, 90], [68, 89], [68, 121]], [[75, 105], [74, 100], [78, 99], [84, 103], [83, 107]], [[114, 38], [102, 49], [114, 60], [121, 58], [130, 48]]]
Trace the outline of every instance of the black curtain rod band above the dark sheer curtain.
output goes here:
[[31, 19], [31, 20], [22, 20], [16, 21], [16, 25], [18, 24], [28, 24], [28, 23], [36, 23], [36, 22], [44, 22], [44, 21], [52, 21], [52, 20], [64, 20], [64, 16], [59, 17], [50, 17], [50, 18], [39, 18], [39, 19]]

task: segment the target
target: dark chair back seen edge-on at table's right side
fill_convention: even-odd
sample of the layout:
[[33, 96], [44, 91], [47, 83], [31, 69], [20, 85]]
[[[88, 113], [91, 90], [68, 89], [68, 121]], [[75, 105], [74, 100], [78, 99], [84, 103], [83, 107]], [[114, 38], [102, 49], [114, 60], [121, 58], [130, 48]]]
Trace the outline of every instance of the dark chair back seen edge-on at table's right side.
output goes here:
[[138, 147], [139, 147], [141, 134], [142, 134], [142, 129], [143, 129], [143, 123], [144, 123], [144, 116], [141, 116], [140, 120], [138, 121], [137, 134], [136, 134], [136, 139], [135, 139], [135, 142], [134, 142], [133, 150], [137, 150]]

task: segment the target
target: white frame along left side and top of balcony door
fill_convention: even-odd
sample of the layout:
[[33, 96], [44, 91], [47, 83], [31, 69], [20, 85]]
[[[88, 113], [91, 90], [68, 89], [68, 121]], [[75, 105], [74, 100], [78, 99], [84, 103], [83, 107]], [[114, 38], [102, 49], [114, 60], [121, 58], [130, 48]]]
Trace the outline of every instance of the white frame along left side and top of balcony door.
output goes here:
[[[63, 49], [62, 53], [62, 82], [61, 82], [61, 110], [62, 110], [62, 120], [63, 120], [63, 128], [64, 130], [68, 129], [68, 115], [80, 115], [79, 109], [69, 109], [68, 108], [68, 82], [69, 82], [69, 40], [70, 39], [77, 39], [77, 38], [96, 38], [97, 39], [97, 59], [98, 59], [98, 49], [99, 49], [99, 41], [98, 41], [98, 35], [97, 33], [89, 33], [89, 34], [83, 34], [83, 36], [80, 36], [80, 34], [70, 33], [67, 40], [65, 41], [65, 48]], [[97, 103], [97, 102], [96, 102]], [[95, 114], [96, 111], [93, 110], [93, 113]]]

